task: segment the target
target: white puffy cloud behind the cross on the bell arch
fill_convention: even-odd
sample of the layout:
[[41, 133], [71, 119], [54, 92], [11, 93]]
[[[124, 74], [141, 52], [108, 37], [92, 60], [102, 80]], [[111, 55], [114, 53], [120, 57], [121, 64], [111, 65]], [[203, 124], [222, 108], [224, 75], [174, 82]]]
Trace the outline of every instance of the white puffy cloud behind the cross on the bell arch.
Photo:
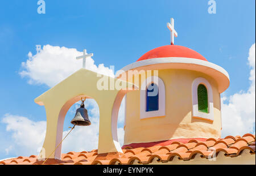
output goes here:
[[[28, 59], [22, 63], [22, 71], [19, 74], [27, 77], [30, 84], [46, 84], [53, 87], [82, 67], [82, 59], [76, 59], [82, 54], [74, 48], [45, 45], [43, 49], [37, 49], [35, 55], [31, 51], [28, 53]], [[98, 66], [94, 65], [92, 58], [86, 59], [86, 68], [114, 76], [113, 71], [105, 67], [103, 63]]]

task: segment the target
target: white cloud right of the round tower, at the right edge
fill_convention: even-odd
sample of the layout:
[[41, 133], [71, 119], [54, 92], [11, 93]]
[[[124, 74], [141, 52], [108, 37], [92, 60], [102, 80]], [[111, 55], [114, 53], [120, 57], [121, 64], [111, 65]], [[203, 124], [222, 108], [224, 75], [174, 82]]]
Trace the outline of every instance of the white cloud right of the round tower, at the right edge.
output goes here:
[[249, 50], [250, 87], [232, 96], [222, 97], [222, 137], [255, 134], [255, 44]]

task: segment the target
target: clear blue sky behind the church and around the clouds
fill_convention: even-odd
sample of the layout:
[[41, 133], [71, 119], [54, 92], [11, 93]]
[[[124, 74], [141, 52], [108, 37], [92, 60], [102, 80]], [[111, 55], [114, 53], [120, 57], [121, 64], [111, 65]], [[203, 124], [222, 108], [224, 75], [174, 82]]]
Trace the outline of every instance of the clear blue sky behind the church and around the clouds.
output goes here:
[[[44, 107], [35, 104], [34, 98], [49, 86], [28, 84], [29, 78], [19, 74], [24, 70], [22, 62], [27, 61], [28, 52], [36, 54], [35, 45], [87, 49], [94, 53], [95, 65], [114, 65], [118, 70], [137, 61], [148, 50], [168, 45], [170, 32], [166, 23], [170, 18], [175, 19], [176, 45], [198, 51], [209, 62], [229, 72], [230, 87], [225, 91], [226, 97], [250, 87], [247, 57], [255, 43], [254, 0], [216, 0], [216, 14], [208, 14], [207, 0], [45, 0], [46, 14], [37, 13], [37, 2], [1, 1], [0, 118], [12, 114], [34, 122], [46, 121]], [[72, 112], [67, 114], [70, 119]], [[66, 121], [65, 130], [69, 123]], [[16, 144], [16, 148], [12, 145], [17, 141], [6, 126], [0, 121], [0, 159], [16, 156], [16, 148], [22, 148], [22, 144]], [[10, 146], [14, 146], [12, 151], [6, 152]]]

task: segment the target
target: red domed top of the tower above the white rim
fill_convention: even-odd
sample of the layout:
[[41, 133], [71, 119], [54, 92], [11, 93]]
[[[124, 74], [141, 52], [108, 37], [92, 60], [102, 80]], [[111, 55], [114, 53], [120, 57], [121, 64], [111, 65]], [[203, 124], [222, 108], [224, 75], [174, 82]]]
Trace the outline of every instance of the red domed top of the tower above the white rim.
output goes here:
[[152, 59], [152, 58], [166, 58], [166, 57], [195, 58], [195, 59], [207, 61], [207, 59], [205, 59], [203, 55], [197, 53], [196, 51], [190, 48], [187, 48], [185, 46], [179, 46], [179, 45], [166, 45], [166, 46], [160, 46], [158, 48], [152, 49], [147, 53], [143, 54], [142, 57], [138, 59], [138, 61], [143, 61], [143, 60]]

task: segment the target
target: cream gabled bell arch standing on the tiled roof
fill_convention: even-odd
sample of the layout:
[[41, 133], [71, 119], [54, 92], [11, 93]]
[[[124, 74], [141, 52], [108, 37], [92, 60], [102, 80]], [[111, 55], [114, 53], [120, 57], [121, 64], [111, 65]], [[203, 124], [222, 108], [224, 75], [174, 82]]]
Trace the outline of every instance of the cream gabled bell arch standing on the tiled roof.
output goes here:
[[[62, 131], [65, 114], [68, 109], [82, 96], [93, 98], [100, 110], [100, 127], [98, 136], [98, 154], [109, 152], [122, 153], [117, 138], [117, 118], [118, 110], [123, 96], [137, 87], [126, 81], [104, 76], [110, 83], [122, 83], [120, 89], [97, 88], [97, 83], [101, 79], [96, 72], [81, 68], [67, 79], [61, 81], [55, 87], [49, 89], [43, 95], [37, 97], [35, 102], [44, 105], [47, 116], [46, 138], [44, 139], [42, 152], [39, 159], [48, 158], [51, 152], [62, 140]], [[79, 85], [77, 85], [79, 83]], [[85, 127], [86, 128], [86, 127]], [[61, 158], [61, 146], [49, 158]]]

